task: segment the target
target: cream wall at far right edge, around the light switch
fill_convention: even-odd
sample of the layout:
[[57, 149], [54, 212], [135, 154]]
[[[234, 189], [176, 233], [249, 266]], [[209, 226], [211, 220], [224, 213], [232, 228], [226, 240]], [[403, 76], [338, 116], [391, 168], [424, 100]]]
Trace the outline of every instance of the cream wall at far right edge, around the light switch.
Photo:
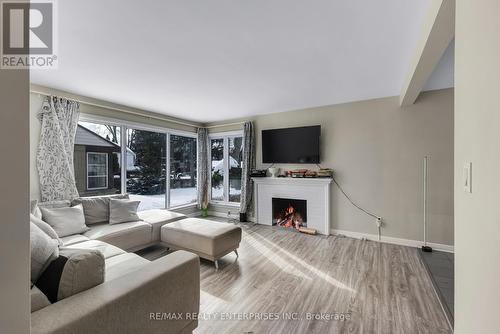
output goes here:
[[[458, 0], [455, 333], [500, 331], [500, 2]], [[472, 162], [472, 193], [462, 185]]]

